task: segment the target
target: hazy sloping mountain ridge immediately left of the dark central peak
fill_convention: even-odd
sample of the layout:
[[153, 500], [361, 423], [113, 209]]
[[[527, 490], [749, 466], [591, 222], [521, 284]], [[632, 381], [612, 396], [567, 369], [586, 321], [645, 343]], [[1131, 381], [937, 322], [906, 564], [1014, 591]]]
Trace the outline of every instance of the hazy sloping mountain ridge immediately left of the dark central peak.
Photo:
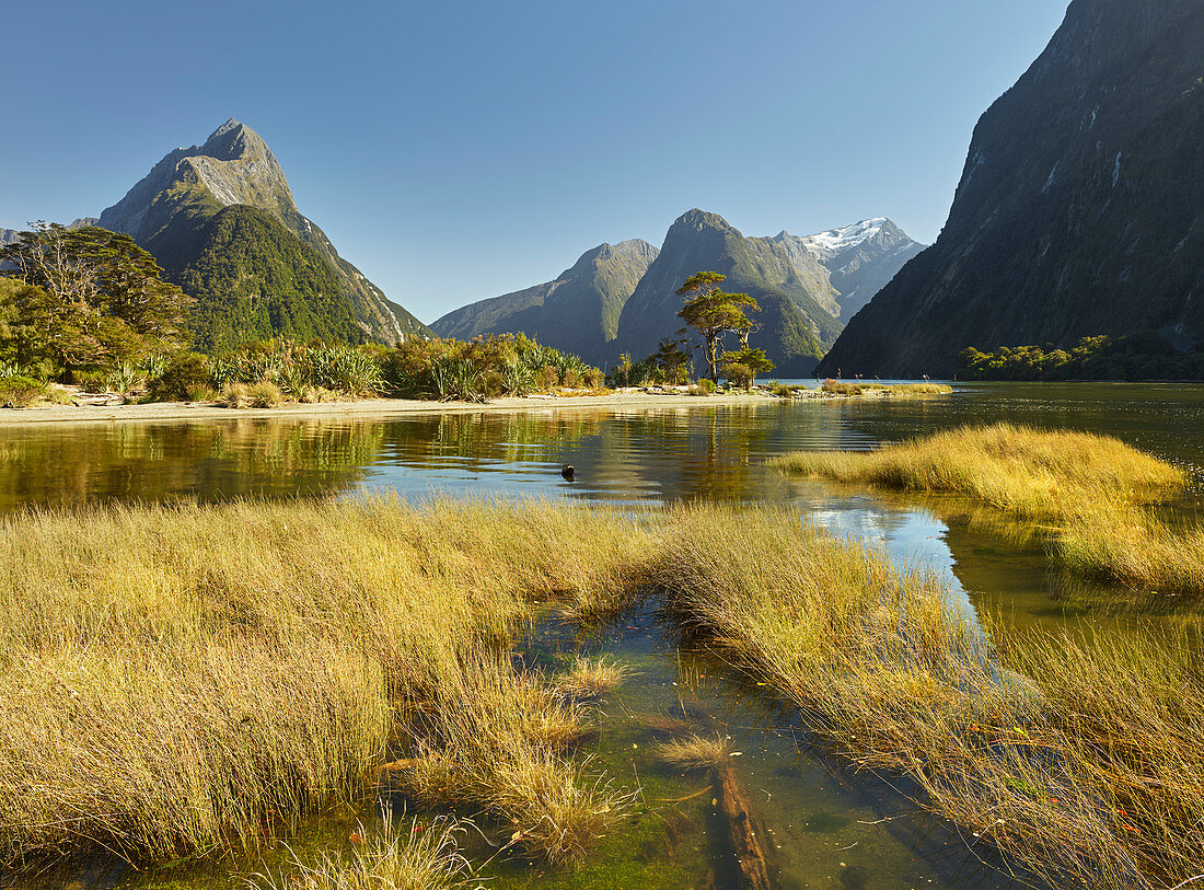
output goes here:
[[431, 324], [441, 337], [524, 332], [545, 346], [604, 363], [619, 313], [659, 251], [635, 238], [586, 251], [555, 279], [471, 303]]

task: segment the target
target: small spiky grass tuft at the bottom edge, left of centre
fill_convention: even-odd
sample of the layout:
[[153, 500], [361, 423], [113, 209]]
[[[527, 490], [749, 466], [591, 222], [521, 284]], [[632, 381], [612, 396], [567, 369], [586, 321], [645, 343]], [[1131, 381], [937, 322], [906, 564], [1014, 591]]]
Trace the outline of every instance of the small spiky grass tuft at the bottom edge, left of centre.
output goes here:
[[255, 874], [259, 890], [458, 890], [473, 886], [468, 860], [460, 855], [465, 829], [453, 819], [423, 825], [417, 819], [396, 825], [385, 813], [382, 825], [365, 837], [353, 836], [350, 853], [326, 850], [313, 862], [296, 854], [276, 874]]

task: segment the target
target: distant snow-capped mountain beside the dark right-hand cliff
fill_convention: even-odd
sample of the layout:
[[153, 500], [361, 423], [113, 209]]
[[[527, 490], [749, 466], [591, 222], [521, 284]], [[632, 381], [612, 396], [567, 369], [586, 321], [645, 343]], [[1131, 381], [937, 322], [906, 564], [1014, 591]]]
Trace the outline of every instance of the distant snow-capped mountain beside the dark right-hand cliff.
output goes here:
[[781, 232], [775, 238], [789, 240], [801, 242], [828, 270], [839, 317], [846, 320], [925, 248], [885, 217], [862, 219], [819, 235], [798, 237]]

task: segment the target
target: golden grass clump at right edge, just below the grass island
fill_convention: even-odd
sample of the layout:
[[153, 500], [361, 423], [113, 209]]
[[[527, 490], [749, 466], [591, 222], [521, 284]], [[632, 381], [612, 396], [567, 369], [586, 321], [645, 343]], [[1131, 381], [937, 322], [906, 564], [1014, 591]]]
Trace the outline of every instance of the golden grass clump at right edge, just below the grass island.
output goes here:
[[1087, 511], [1062, 529], [1058, 559], [1073, 571], [1139, 590], [1143, 599], [1204, 597], [1204, 526], [1175, 529], [1143, 509]]

